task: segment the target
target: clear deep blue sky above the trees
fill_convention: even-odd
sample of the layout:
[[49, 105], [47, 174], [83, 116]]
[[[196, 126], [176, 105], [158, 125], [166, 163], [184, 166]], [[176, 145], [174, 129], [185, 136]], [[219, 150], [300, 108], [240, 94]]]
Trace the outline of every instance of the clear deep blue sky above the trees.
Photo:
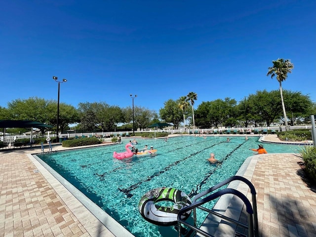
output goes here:
[[106, 102], [159, 111], [193, 91], [237, 102], [278, 89], [267, 77], [290, 59], [283, 89], [316, 102], [315, 0], [12, 0], [1, 2], [0, 106], [40, 97], [75, 107]]

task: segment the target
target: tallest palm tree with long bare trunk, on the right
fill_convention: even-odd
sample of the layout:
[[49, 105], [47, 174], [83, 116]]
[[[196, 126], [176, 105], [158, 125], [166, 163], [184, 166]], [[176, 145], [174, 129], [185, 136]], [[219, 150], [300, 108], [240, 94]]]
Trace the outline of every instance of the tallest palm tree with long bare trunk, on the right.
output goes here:
[[277, 81], [279, 82], [280, 86], [280, 94], [281, 94], [281, 102], [282, 102], [282, 109], [283, 109], [283, 116], [285, 121], [285, 129], [288, 130], [287, 125], [287, 117], [285, 113], [285, 106], [283, 101], [283, 94], [282, 94], [282, 81], [287, 78], [288, 73], [292, 73], [292, 69], [294, 65], [290, 62], [289, 59], [284, 60], [283, 58], [278, 58], [276, 61], [272, 61], [273, 67], [268, 68], [267, 76], [271, 75], [271, 78], [276, 76]]

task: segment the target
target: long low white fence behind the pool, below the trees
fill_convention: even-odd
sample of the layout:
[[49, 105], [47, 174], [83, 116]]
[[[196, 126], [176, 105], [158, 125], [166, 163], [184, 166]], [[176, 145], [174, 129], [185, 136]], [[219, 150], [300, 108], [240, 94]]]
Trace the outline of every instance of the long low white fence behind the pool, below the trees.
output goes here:
[[[312, 126], [290, 126], [289, 127], [290, 130], [297, 130], [297, 129], [312, 129]], [[222, 128], [222, 130], [226, 130], [227, 128]], [[239, 129], [241, 128], [230, 128], [231, 131], [234, 131], [234, 129], [237, 129], [237, 131], [239, 131]], [[285, 131], [285, 126], [278, 126], [278, 127], [252, 127], [251, 128], [252, 130], [254, 129], [258, 129], [259, 133], [260, 131], [262, 131], [263, 129], [268, 129], [268, 130], [275, 130], [275, 131]], [[171, 134], [175, 134], [175, 133], [195, 133], [196, 131], [198, 131], [198, 133], [209, 133], [209, 132], [213, 132], [215, 129], [214, 128], [204, 128], [204, 129], [158, 129], [156, 130], [156, 132], [168, 132], [168, 133], [171, 133]], [[247, 130], [247, 128], [243, 128], [244, 131]], [[145, 132], [155, 132], [155, 130], [151, 129], [151, 130], [144, 130]], [[144, 131], [135, 131], [135, 134], [137, 136], [137, 133], [139, 132], [144, 132]], [[219, 129], [217, 128], [217, 131], [219, 131]], [[126, 131], [128, 132], [129, 134], [131, 133], [130, 131]], [[59, 134], [59, 138], [62, 138], [62, 139], [66, 139], [66, 138], [70, 138], [70, 137], [75, 137], [75, 136], [78, 136], [78, 137], [81, 137], [82, 135], [86, 136], [86, 137], [89, 137], [89, 136], [94, 136], [95, 134], [98, 134], [98, 135], [101, 135], [101, 136], [109, 136], [109, 135], [115, 135], [115, 136], [118, 136], [118, 135], [122, 135], [122, 134], [125, 134], [126, 132], [97, 132], [97, 133], [93, 133], [93, 132], [86, 132], [86, 133], [63, 133], [63, 134]], [[49, 137], [55, 137], [56, 134], [49, 134]], [[34, 135], [33, 137], [39, 137], [39, 136], [36, 136]], [[47, 137], [47, 135], [45, 136]], [[5, 136], [4, 137], [4, 143], [13, 143], [14, 141], [16, 141], [17, 139], [21, 139], [21, 138], [28, 138], [28, 139], [31, 139], [31, 135], [16, 135], [16, 136]], [[3, 140], [3, 136], [0, 137], [0, 141]]]

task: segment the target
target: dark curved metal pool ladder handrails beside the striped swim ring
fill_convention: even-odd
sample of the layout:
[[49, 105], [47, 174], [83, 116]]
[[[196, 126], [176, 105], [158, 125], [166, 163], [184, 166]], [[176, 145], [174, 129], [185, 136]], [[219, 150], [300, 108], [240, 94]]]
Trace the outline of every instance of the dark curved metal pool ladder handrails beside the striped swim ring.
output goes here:
[[[251, 192], [251, 196], [252, 196], [252, 205], [250, 203], [250, 201], [248, 200], [248, 198], [246, 196], [244, 196], [242, 193], [240, 193], [239, 191], [235, 190], [235, 189], [231, 189], [231, 188], [226, 188], [226, 189], [222, 189], [220, 191], [217, 191], [214, 194], [211, 194], [207, 197], [204, 197], [202, 199], [200, 199], [199, 201], [197, 201], [198, 198], [203, 197], [219, 188], [221, 188], [222, 186], [234, 181], [234, 180], [239, 180], [244, 182], [245, 184], [248, 185], [248, 187], [250, 188], [250, 192]], [[246, 212], [248, 215], [248, 225], [245, 225], [244, 223], [241, 223], [235, 219], [232, 219], [228, 216], [225, 216], [223, 214], [220, 214], [218, 212], [215, 212], [213, 210], [207, 209], [205, 207], [202, 207], [201, 205], [203, 205], [206, 202], [209, 202], [215, 198], [221, 197], [225, 194], [233, 194], [237, 197], [239, 197], [243, 203], [245, 204], [246, 207]], [[206, 211], [212, 215], [215, 215], [223, 220], [226, 220], [229, 223], [233, 223], [236, 224], [237, 226], [240, 226], [242, 228], [248, 229], [248, 237], [258, 237], [259, 236], [259, 230], [258, 230], [258, 214], [257, 214], [257, 201], [256, 201], [256, 190], [254, 188], [254, 186], [252, 185], [252, 183], [247, 180], [244, 177], [241, 176], [233, 176], [231, 178], [228, 178], [220, 183], [218, 183], [217, 185], [213, 186], [212, 188], [209, 188], [208, 190], [197, 194], [197, 196], [194, 197], [192, 204], [190, 206], [187, 206], [183, 209], [181, 209], [178, 213], [178, 237], [181, 237], [181, 229], [182, 229], [182, 225], [187, 226], [191, 229], [190, 236], [192, 236], [192, 233], [195, 232], [195, 235], [197, 233], [201, 234], [202, 236], [205, 237], [213, 237], [212, 235], [210, 235], [209, 233], [206, 233], [205, 231], [197, 228], [197, 210], [196, 208], [199, 208], [203, 211]], [[189, 224], [188, 222], [184, 221], [181, 216], [187, 212], [188, 210], [193, 210], [193, 215], [194, 215], [194, 226]], [[210, 215], [209, 214], [209, 215]], [[185, 228], [183, 228], [185, 229]]]

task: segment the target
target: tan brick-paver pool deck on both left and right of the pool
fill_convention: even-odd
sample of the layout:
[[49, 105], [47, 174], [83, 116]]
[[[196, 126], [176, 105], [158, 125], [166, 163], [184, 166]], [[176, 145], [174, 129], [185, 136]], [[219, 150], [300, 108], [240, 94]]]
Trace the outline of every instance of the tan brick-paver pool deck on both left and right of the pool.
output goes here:
[[[264, 135], [262, 142], [281, 141]], [[68, 149], [53, 146], [61, 150]], [[85, 207], [89, 204], [30, 155], [36, 153], [40, 147], [0, 150], [0, 236], [126, 236], [108, 216], [97, 219]], [[304, 181], [300, 161], [295, 154], [265, 154], [253, 156], [244, 168], [257, 191], [260, 237], [316, 237], [316, 190]]]

